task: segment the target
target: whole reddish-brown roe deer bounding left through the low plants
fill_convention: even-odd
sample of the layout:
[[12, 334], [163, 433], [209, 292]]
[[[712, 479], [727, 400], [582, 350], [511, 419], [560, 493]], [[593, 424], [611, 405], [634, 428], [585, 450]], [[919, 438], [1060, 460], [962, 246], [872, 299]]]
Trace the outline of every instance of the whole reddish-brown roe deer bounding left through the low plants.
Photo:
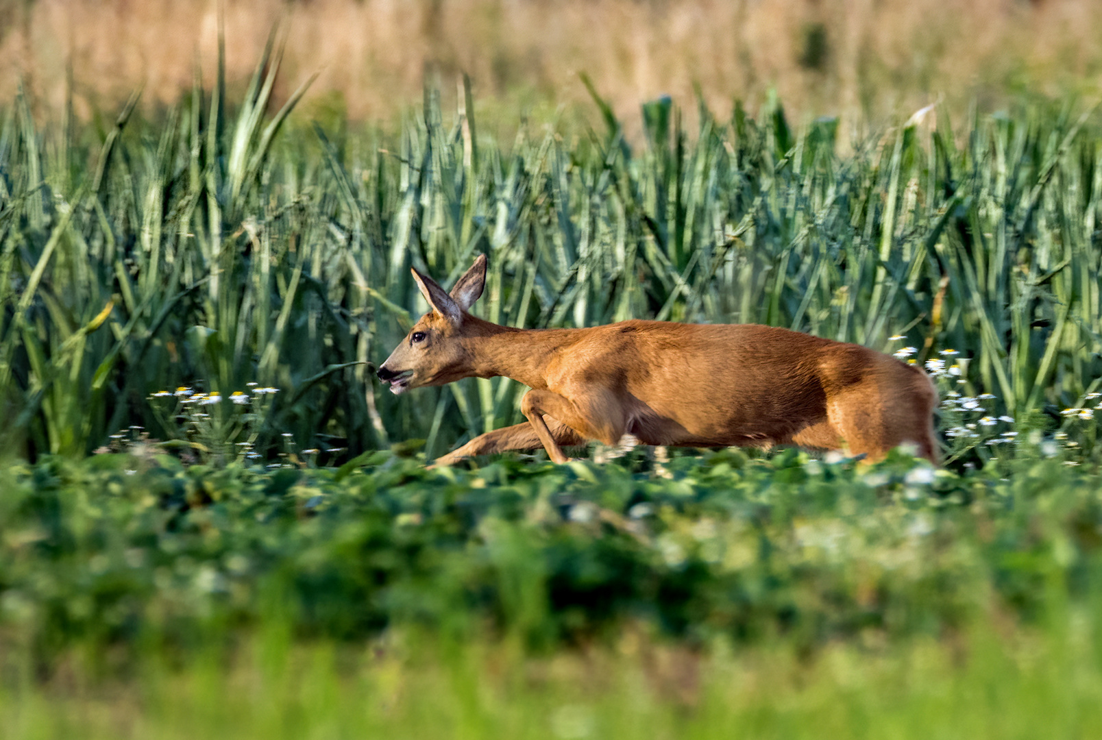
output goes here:
[[937, 463], [938, 394], [918, 367], [860, 345], [756, 324], [629, 320], [516, 329], [467, 313], [486, 282], [479, 255], [451, 294], [413, 270], [432, 307], [378, 368], [393, 393], [461, 378], [528, 385], [528, 423], [475, 437], [436, 460], [625, 433], [647, 445], [847, 449], [875, 460], [910, 443]]

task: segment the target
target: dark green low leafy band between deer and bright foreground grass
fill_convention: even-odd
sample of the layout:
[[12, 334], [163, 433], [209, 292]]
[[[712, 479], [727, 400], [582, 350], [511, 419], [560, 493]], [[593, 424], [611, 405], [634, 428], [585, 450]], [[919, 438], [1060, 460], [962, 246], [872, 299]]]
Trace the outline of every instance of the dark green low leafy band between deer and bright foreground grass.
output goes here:
[[738, 451], [425, 470], [187, 468], [52, 458], [0, 474], [0, 633], [190, 650], [241, 630], [363, 639], [419, 627], [533, 650], [627, 625], [801, 650], [942, 635], [991, 610], [1045, 623], [1102, 578], [1096, 472], [964, 477]]

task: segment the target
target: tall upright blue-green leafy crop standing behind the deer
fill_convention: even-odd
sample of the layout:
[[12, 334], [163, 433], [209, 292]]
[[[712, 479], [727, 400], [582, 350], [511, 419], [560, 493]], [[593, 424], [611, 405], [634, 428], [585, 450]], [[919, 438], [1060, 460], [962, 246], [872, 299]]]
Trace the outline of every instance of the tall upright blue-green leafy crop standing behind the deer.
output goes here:
[[[152, 393], [225, 399], [248, 382], [281, 391], [249, 433], [263, 455], [284, 433], [348, 456], [411, 438], [443, 454], [517, 421], [519, 385], [397, 399], [369, 363], [424, 308], [409, 266], [447, 284], [487, 253], [476, 312], [495, 322], [759, 322], [912, 346], [919, 362], [953, 349], [964, 395], [994, 394], [1023, 432], [1065, 425], [1093, 455], [1094, 423], [1059, 414], [1102, 371], [1090, 110], [976, 113], [959, 135], [939, 115], [851, 143], [831, 120], [793, 127], [776, 101], [730, 121], [702, 109], [687, 131], [663, 99], [629, 144], [594, 94], [605, 129], [522, 126], [497, 142], [431, 90], [393, 133], [292, 122], [294, 97], [269, 118], [278, 61], [236, 102], [220, 77], [209, 95], [197, 79], [156, 122], [128, 107], [114, 124], [41, 126], [8, 105], [9, 454], [79, 457], [131, 425], [183, 438]], [[241, 440], [228, 403], [213, 413], [222, 443]]]

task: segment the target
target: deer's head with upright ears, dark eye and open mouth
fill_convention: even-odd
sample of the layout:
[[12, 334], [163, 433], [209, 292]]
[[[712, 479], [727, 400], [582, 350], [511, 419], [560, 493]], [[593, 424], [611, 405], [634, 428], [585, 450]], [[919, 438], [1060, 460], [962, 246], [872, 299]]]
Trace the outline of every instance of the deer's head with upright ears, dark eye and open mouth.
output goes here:
[[451, 293], [432, 278], [411, 268], [421, 295], [432, 308], [406, 335], [376, 374], [390, 383], [395, 394], [421, 385], [443, 385], [469, 376], [469, 360], [462, 337], [467, 311], [486, 286], [486, 255], [478, 259], [455, 283]]

